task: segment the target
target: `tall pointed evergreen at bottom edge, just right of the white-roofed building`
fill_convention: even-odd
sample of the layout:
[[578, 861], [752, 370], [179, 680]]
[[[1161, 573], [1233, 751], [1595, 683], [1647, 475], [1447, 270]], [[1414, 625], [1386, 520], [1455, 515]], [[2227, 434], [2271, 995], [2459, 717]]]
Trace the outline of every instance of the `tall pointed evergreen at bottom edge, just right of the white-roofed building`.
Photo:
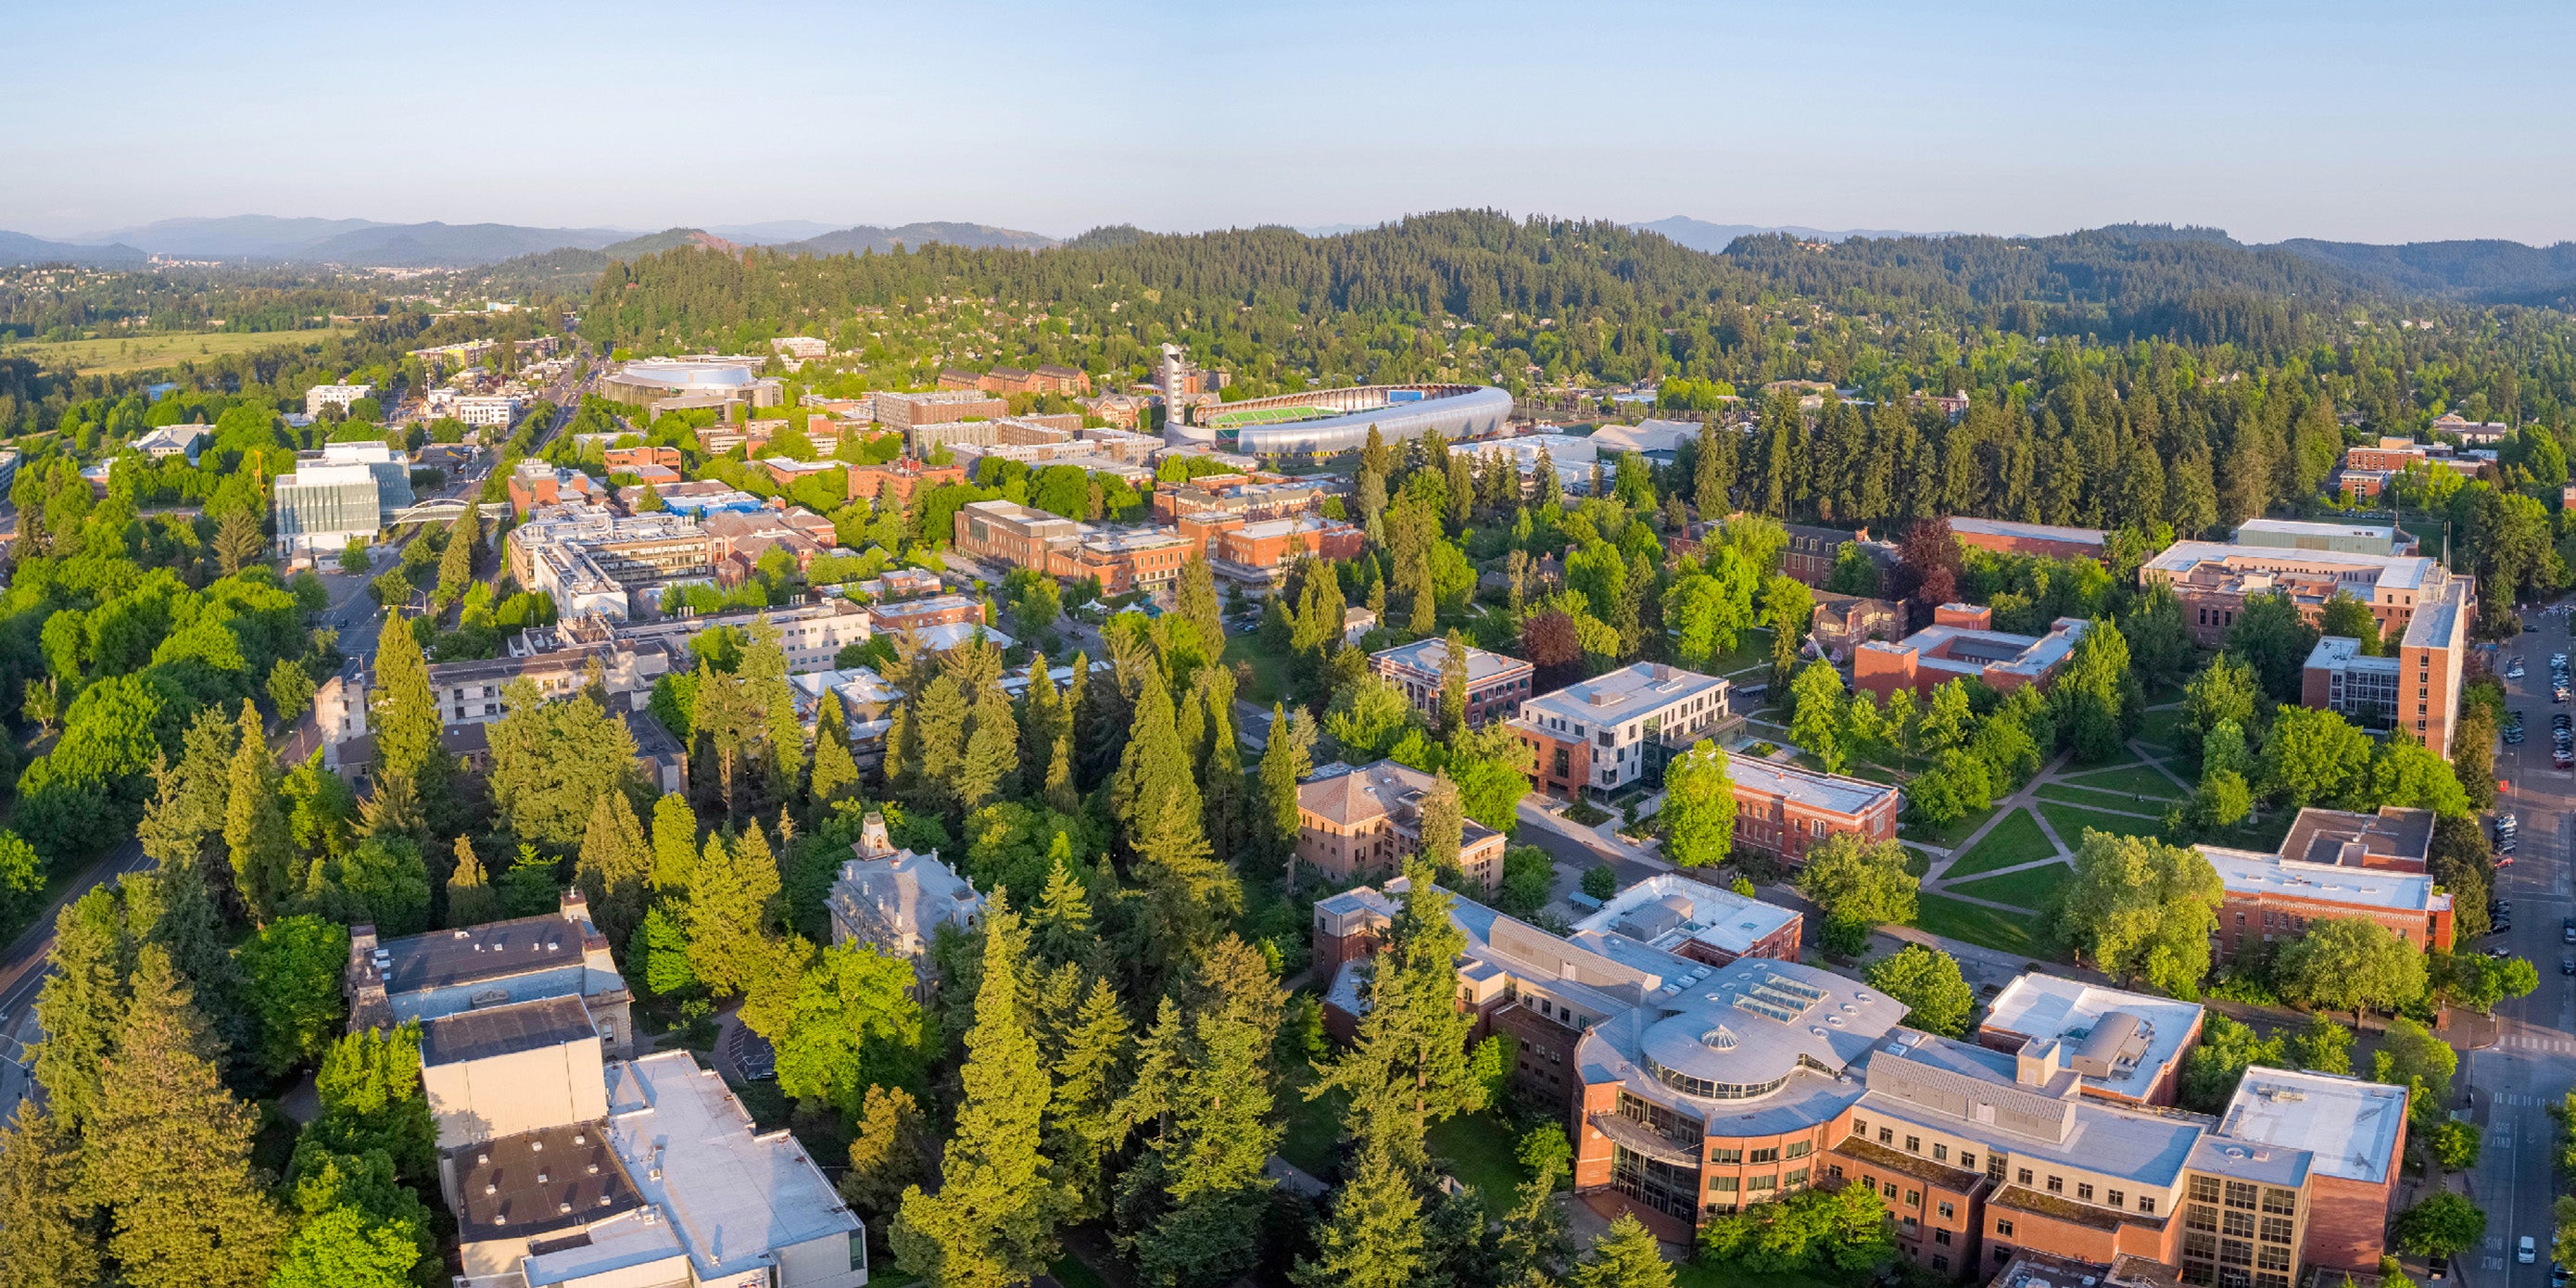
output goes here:
[[896, 1265], [933, 1288], [1025, 1283], [1056, 1252], [1066, 1200], [1041, 1149], [1054, 1084], [1038, 1061], [1025, 971], [1028, 930], [997, 891], [940, 1193], [904, 1190], [894, 1218]]

